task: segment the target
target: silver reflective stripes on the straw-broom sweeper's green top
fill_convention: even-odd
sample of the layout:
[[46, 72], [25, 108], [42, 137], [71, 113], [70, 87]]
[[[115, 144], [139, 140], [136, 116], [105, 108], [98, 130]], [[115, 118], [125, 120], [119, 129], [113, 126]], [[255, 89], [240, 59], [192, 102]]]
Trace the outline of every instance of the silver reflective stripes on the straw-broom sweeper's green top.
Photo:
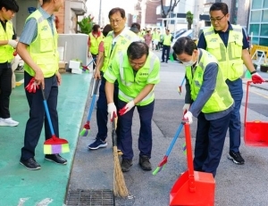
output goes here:
[[[123, 68], [123, 62], [124, 62], [124, 54], [119, 54], [119, 59], [120, 59], [120, 62], [119, 62], [119, 73], [120, 73], [120, 80], [121, 80], [121, 84], [124, 86], [124, 87], [131, 87], [133, 86], [133, 84], [137, 84], [137, 83], [133, 83], [133, 82], [127, 82], [125, 81], [125, 71], [124, 71], [124, 68]], [[147, 58], [150, 58], [149, 59], [149, 64], [150, 64], [150, 68], [148, 70], [148, 74], [150, 74], [152, 72], [152, 70], [154, 70], [154, 64], [155, 64], [155, 59], [157, 58], [156, 55], [150, 55], [148, 56]], [[141, 69], [139, 69], [141, 70]], [[137, 73], [138, 75], [138, 73]], [[136, 76], [137, 77], [137, 76]], [[136, 79], [135, 77], [135, 79]], [[144, 87], [146, 86], [146, 84], [144, 85]], [[127, 100], [128, 102], [130, 102], [131, 100], [133, 100], [133, 97], [129, 96], [129, 95], [126, 95], [123, 91], [121, 91], [121, 87], [119, 87], [119, 93], [118, 93], [119, 96], [122, 97], [122, 99], [125, 99]], [[154, 101], [154, 98], [155, 98], [155, 92], [154, 90], [152, 90], [145, 98], [143, 98], [139, 103], [137, 103], [136, 105], [147, 105], [148, 103], [152, 103]]]

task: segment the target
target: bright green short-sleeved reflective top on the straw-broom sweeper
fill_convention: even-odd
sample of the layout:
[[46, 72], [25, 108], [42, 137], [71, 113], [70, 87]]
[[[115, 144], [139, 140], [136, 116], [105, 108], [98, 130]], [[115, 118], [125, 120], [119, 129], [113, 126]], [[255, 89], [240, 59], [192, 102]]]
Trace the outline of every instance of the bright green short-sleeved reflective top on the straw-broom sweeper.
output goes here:
[[[136, 75], [130, 66], [129, 58], [126, 52], [118, 54], [112, 64], [105, 72], [105, 79], [113, 83], [118, 80], [119, 93], [118, 97], [121, 101], [129, 103], [133, 100], [141, 90], [149, 84], [157, 84], [159, 78], [160, 62], [154, 53], [149, 53], [147, 62], [140, 68]], [[152, 103], [155, 99], [154, 89], [136, 105], [144, 106]]]

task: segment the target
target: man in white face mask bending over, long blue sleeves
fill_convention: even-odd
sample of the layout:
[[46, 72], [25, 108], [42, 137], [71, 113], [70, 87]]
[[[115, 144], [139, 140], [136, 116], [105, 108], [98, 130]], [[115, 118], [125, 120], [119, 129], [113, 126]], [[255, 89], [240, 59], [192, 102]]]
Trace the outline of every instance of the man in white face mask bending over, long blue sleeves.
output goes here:
[[194, 169], [215, 176], [234, 101], [212, 54], [189, 37], [180, 37], [173, 50], [186, 69], [184, 119], [197, 118]]

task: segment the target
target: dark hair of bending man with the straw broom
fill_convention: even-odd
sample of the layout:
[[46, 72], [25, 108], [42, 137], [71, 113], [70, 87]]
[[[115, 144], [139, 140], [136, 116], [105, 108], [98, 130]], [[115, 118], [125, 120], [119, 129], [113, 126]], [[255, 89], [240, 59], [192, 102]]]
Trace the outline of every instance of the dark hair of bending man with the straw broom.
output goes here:
[[130, 60], [136, 60], [144, 54], [148, 56], [149, 47], [144, 42], [132, 42], [128, 47], [127, 54]]

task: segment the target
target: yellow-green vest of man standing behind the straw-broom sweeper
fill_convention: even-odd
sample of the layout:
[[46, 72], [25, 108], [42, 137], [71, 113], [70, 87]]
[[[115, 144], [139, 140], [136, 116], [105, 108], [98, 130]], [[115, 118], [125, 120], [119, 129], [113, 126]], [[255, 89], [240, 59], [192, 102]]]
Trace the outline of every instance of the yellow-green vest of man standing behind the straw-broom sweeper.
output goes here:
[[[130, 31], [127, 30], [124, 32], [123, 37], [120, 36], [118, 37], [116, 44], [113, 46], [113, 31], [110, 31], [108, 35], [104, 39], [104, 44], [105, 44], [105, 62], [102, 68], [102, 71], [105, 72], [107, 70], [109, 64], [113, 60], [115, 54], [120, 53], [121, 51], [127, 50], [129, 45], [133, 41], [137, 41], [138, 36]], [[113, 51], [112, 51], [112, 46], [113, 46]], [[111, 53], [112, 52], [112, 53]]]

